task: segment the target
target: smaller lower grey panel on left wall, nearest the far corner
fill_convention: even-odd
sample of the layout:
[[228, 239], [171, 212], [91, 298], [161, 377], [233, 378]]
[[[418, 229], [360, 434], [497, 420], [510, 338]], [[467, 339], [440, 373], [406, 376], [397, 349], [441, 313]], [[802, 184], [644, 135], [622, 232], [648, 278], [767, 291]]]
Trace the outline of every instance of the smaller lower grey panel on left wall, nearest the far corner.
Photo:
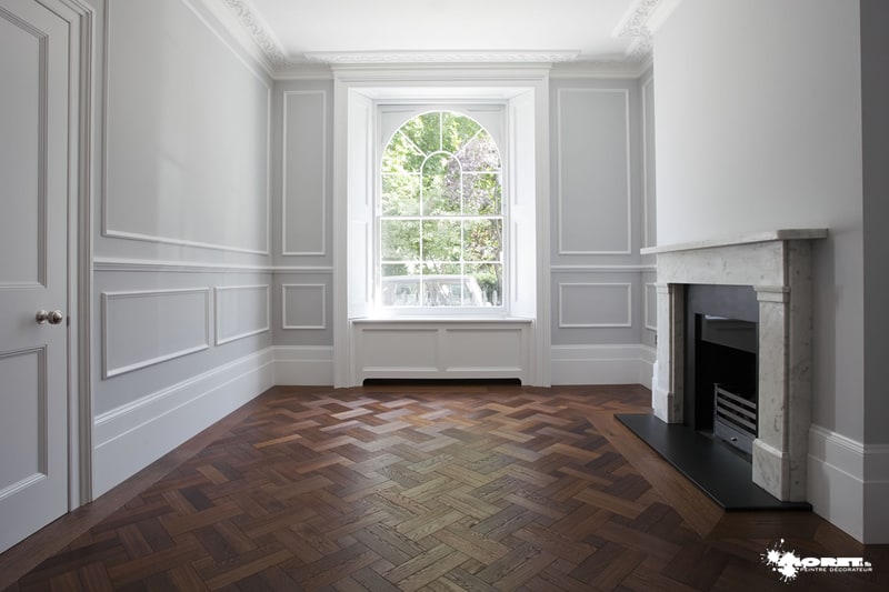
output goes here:
[[269, 330], [269, 287], [224, 285], [216, 289], [216, 344]]

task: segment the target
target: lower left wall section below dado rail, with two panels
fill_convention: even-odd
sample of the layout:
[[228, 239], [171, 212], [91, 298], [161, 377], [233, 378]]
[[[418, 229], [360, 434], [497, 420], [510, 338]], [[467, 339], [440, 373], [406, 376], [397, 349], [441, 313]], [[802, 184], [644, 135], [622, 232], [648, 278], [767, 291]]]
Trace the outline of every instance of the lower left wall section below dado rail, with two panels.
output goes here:
[[271, 345], [270, 273], [99, 270], [93, 281], [97, 417]]

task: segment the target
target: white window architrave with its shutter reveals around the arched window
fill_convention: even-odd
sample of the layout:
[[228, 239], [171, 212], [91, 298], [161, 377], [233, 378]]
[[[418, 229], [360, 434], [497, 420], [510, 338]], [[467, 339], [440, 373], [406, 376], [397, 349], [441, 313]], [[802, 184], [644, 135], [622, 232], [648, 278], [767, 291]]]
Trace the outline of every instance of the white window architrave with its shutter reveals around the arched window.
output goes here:
[[[518, 124], [510, 132], [521, 143], [519, 158], [533, 164], [532, 174], [517, 179], [513, 222], [528, 228], [512, 269], [526, 269], [528, 279], [512, 279], [511, 314], [533, 322], [531, 369], [527, 382], [550, 382], [549, 343], [549, 69], [548, 68], [334, 68], [333, 129], [333, 349], [334, 385], [352, 385], [351, 319], [366, 318], [370, 278], [368, 264], [372, 213], [372, 104], [374, 101], [417, 99], [429, 102], [500, 99]], [[531, 151], [532, 150], [532, 151]], [[370, 179], [370, 180], [369, 180]], [[527, 187], [526, 187], [527, 185]], [[523, 200], [523, 202], [522, 202]], [[364, 223], [363, 220], [368, 219]], [[519, 241], [515, 241], [519, 242]], [[529, 247], [530, 245], [530, 247]], [[370, 251], [372, 252], [372, 251]], [[441, 321], [447, 322], [447, 321]]]

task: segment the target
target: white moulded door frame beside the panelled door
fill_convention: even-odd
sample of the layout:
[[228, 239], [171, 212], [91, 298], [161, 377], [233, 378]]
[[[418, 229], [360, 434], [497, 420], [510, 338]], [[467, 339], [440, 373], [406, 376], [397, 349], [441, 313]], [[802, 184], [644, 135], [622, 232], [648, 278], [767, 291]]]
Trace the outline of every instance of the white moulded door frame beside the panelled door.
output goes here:
[[92, 197], [97, 9], [36, 0], [69, 23], [68, 511], [92, 501]]

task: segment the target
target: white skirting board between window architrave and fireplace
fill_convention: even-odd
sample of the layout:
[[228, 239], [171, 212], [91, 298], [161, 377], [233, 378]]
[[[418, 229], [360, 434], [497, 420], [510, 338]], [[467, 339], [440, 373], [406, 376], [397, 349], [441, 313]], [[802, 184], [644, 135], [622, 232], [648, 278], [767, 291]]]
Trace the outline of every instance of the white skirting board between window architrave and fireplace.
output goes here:
[[553, 345], [552, 384], [642, 384], [651, 388], [653, 348], [641, 344]]

